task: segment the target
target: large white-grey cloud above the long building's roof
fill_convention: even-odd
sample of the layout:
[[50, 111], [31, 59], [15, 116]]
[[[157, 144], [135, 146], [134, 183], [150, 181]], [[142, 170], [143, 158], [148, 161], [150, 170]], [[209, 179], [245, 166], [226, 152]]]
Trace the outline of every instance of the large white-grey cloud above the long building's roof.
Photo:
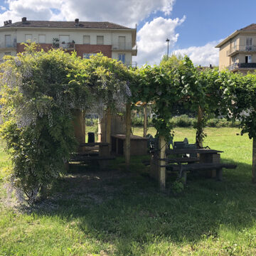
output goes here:
[[[171, 14], [176, 0], [7, 0], [9, 10], [0, 14], [0, 22], [12, 19], [111, 21], [124, 26], [135, 26], [154, 11]], [[57, 9], [54, 14], [50, 9]]]

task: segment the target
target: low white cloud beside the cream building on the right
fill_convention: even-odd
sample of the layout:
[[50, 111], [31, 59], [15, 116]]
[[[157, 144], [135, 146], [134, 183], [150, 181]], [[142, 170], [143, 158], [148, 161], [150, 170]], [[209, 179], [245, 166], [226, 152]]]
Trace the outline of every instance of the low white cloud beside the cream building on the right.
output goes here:
[[189, 48], [175, 50], [172, 54], [188, 55], [195, 65], [218, 66], [219, 49], [215, 48], [220, 41], [206, 43], [205, 46], [191, 46]]

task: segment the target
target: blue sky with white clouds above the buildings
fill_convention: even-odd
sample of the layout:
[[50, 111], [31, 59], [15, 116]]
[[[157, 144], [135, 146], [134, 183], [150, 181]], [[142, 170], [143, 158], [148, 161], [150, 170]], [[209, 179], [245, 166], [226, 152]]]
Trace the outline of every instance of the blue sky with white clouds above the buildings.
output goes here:
[[139, 65], [159, 63], [166, 53], [187, 54], [196, 65], [218, 65], [214, 46], [233, 31], [256, 23], [255, 0], [0, 0], [7, 19], [137, 23]]

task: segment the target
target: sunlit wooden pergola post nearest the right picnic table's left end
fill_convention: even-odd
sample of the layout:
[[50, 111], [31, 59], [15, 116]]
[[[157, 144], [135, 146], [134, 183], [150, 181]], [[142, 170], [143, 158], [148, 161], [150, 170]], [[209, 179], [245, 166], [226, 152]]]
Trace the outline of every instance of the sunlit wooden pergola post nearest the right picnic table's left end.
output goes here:
[[[159, 136], [159, 158], [165, 159], [166, 158], [166, 141], [163, 136]], [[166, 161], [159, 160], [159, 186], [162, 191], [166, 188]]]

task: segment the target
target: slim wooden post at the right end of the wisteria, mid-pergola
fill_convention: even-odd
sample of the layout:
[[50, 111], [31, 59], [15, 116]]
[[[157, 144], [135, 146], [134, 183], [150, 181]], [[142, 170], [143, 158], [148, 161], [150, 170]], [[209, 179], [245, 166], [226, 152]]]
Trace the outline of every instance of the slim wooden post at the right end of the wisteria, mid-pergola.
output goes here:
[[131, 159], [131, 102], [127, 102], [126, 114], [125, 114], [125, 124], [126, 124], [126, 134], [125, 134], [125, 166], [129, 169], [130, 159]]

